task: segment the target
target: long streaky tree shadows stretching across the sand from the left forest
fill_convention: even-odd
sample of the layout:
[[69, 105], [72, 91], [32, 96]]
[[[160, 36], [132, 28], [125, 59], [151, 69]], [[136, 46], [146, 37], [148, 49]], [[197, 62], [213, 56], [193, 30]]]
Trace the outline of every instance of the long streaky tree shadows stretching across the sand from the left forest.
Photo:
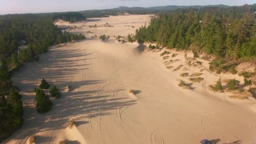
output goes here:
[[[116, 112], [115, 109], [136, 104], [136, 100], [120, 96], [120, 91], [126, 93], [124, 89], [109, 89], [111, 84], [108, 80], [67, 81], [68, 77], [72, 78], [77, 73], [86, 74], [90, 65], [87, 59], [93, 59], [88, 57], [90, 55], [91, 53], [86, 53], [85, 50], [79, 48], [72, 50], [53, 48], [45, 56], [40, 56], [42, 57], [40, 62], [32, 65], [35, 67], [24, 66], [21, 72], [14, 75], [14, 84], [21, 88], [24, 124], [5, 142], [11, 139], [26, 141], [28, 136], [38, 132], [52, 131], [54, 133], [59, 129], [67, 128], [69, 120], [73, 120], [74, 117], [77, 126], [81, 126], [91, 123], [92, 118], [112, 115]], [[80, 62], [77, 63], [77, 61]], [[73, 65], [78, 66], [74, 68]], [[33, 92], [42, 78], [61, 90], [61, 98], [51, 98], [53, 108], [45, 114], [36, 112]], [[82, 79], [85, 78], [82, 77]], [[26, 86], [23, 87], [23, 85]], [[69, 91], [67, 85], [71, 86]], [[45, 93], [48, 93], [48, 90]], [[51, 141], [51, 138], [42, 139], [42, 141], [44, 139]]]

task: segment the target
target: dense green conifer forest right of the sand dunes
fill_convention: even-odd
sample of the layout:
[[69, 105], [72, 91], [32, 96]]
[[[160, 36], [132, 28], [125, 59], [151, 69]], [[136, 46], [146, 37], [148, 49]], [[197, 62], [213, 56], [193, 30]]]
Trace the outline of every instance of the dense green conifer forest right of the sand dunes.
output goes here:
[[[243, 13], [237, 14], [236, 10]], [[256, 21], [255, 13], [251, 13], [254, 10], [255, 4], [235, 9], [184, 9], [161, 13], [148, 27], [137, 29], [135, 38], [139, 42], [156, 42], [166, 48], [214, 55], [216, 60], [210, 69], [221, 72], [220, 65], [230, 60], [233, 64], [237, 61], [256, 62]], [[232, 64], [228, 67], [233, 68]]]

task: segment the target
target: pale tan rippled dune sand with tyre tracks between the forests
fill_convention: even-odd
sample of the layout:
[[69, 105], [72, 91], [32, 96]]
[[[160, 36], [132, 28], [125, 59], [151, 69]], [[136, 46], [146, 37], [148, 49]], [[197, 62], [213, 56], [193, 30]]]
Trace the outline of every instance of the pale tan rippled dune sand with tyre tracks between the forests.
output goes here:
[[[151, 17], [97, 18], [75, 25], [108, 22], [114, 27], [83, 27], [71, 32], [89, 29], [92, 33], [86, 37], [126, 36], [135, 28], [123, 25], [138, 28]], [[67, 25], [71, 24], [62, 23], [62, 27]], [[208, 62], [200, 59], [202, 65], [188, 66], [184, 52], [170, 51], [170, 57], [163, 60], [163, 50], [149, 52], [145, 47], [118, 43], [113, 37], [105, 41], [88, 38], [54, 46], [40, 55], [39, 62], [25, 64], [13, 75], [24, 102], [24, 125], [5, 142], [26, 144], [32, 134], [40, 144], [63, 140], [68, 144], [199, 144], [202, 139], [214, 144], [256, 142], [255, 99], [230, 99], [229, 93], [213, 93], [207, 88], [219, 77], [242, 77], [213, 74], [208, 71]], [[171, 57], [173, 53], [178, 55]], [[187, 57], [192, 57], [192, 52], [187, 52]], [[164, 63], [170, 59], [173, 61]], [[179, 65], [182, 67], [173, 71]], [[201, 69], [200, 83], [179, 76]], [[60, 88], [61, 98], [51, 98], [51, 111], [38, 114], [33, 88], [42, 78]], [[191, 89], [179, 87], [179, 80], [190, 84]], [[128, 93], [130, 89], [133, 94]], [[75, 120], [72, 128], [68, 128], [69, 120]]]

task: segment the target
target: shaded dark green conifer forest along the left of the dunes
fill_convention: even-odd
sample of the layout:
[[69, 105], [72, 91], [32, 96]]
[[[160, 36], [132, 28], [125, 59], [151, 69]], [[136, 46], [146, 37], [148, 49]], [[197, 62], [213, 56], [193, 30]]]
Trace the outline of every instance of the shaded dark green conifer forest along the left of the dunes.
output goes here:
[[85, 38], [61, 32], [53, 24], [53, 14], [14, 14], [0, 16], [0, 141], [23, 123], [23, 106], [11, 73], [29, 61], [39, 60], [53, 44]]

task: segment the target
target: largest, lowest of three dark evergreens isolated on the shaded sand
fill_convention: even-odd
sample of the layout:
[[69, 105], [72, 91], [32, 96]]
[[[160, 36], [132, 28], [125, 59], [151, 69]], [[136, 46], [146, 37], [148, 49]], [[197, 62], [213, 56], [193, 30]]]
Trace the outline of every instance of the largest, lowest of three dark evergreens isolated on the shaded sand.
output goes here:
[[52, 108], [52, 102], [49, 99], [49, 96], [44, 93], [43, 90], [34, 89], [34, 92], [36, 93], [36, 108], [37, 112], [44, 113], [48, 112]]

